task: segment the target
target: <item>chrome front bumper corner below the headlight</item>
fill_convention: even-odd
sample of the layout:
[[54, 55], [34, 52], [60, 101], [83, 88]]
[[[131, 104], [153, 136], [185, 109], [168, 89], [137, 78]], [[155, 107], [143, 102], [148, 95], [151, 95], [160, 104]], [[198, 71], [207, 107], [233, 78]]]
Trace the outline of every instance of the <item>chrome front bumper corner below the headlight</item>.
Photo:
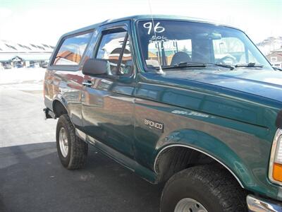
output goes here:
[[247, 195], [247, 208], [252, 212], [282, 212], [282, 203]]

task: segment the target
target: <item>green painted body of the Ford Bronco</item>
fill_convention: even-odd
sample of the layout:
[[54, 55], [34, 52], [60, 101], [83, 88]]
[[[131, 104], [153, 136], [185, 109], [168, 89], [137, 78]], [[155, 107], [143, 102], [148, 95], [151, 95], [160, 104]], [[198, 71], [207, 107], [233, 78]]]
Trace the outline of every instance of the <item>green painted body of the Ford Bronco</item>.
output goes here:
[[[189, 149], [223, 165], [250, 194], [282, 201], [282, 187], [269, 179], [271, 147], [282, 119], [282, 73], [145, 71], [136, 23], [150, 18], [109, 20], [63, 35], [56, 48], [65, 37], [94, 31], [77, 66], [53, 66], [50, 60], [44, 81], [47, 117], [66, 110], [80, 138], [154, 184], [171, 176], [169, 150], [180, 157]], [[101, 31], [116, 25], [128, 31], [134, 73], [119, 78], [83, 75], [83, 63]], [[92, 86], [83, 86], [85, 80]]]

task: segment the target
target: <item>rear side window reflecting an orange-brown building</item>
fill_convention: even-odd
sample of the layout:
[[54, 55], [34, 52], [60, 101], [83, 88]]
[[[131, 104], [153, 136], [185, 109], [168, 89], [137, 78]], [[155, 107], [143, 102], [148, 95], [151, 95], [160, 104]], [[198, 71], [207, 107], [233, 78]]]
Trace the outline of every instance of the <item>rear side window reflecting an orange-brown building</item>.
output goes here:
[[92, 33], [75, 35], [63, 40], [53, 65], [77, 66], [85, 52]]

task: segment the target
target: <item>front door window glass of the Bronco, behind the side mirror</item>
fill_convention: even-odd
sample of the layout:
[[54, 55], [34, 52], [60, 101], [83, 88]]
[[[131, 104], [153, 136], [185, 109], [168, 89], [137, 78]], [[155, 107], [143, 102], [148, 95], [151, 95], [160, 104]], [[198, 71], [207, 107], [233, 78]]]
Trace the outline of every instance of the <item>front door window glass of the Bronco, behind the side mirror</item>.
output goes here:
[[[111, 73], [114, 75], [130, 75], [133, 71], [129, 40], [126, 40], [125, 43], [126, 34], [127, 32], [105, 34], [99, 45], [96, 58], [108, 61]], [[117, 70], [120, 57], [121, 64], [119, 70]]]

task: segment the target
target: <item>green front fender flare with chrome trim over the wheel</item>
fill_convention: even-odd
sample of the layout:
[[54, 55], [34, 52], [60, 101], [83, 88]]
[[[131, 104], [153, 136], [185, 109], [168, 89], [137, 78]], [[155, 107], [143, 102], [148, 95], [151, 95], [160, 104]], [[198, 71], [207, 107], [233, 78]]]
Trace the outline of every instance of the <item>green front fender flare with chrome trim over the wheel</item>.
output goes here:
[[226, 145], [226, 143], [223, 143], [223, 141], [219, 141], [219, 139], [202, 131], [194, 129], [174, 131], [169, 136], [166, 136], [163, 141], [159, 141], [159, 143], [162, 143], [162, 145], [159, 145], [160, 147], [154, 157], [155, 173], [157, 173], [157, 161], [161, 153], [168, 148], [180, 146], [198, 151], [209, 156], [209, 158], [216, 160], [216, 162], [223, 165], [223, 167], [235, 177], [240, 184], [240, 187], [245, 188], [244, 182], [252, 182], [250, 177], [251, 173], [247, 170], [247, 167], [245, 167], [243, 160], [241, 160], [238, 155]]

